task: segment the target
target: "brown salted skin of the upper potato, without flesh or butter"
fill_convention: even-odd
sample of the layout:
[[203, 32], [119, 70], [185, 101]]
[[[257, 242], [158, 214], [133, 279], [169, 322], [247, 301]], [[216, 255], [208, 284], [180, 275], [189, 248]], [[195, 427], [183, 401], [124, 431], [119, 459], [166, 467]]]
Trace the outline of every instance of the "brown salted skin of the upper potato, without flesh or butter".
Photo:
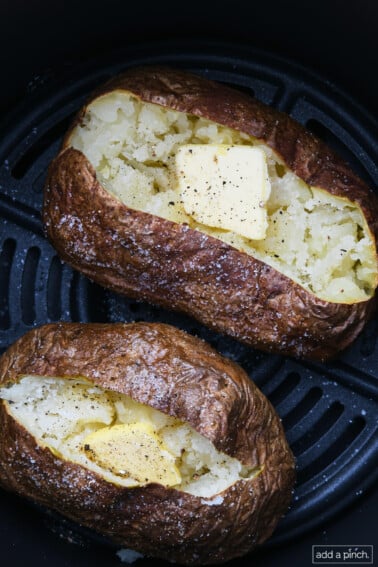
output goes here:
[[[299, 177], [358, 203], [374, 236], [378, 201], [325, 145], [289, 116], [244, 93], [178, 70], [130, 69], [112, 90], [214, 120], [257, 137]], [[88, 102], [88, 104], [89, 104]], [[106, 192], [70, 133], [45, 186], [45, 231], [59, 255], [117, 293], [186, 313], [268, 352], [327, 360], [360, 333], [375, 305], [316, 298], [274, 268], [186, 225], [130, 209]]]

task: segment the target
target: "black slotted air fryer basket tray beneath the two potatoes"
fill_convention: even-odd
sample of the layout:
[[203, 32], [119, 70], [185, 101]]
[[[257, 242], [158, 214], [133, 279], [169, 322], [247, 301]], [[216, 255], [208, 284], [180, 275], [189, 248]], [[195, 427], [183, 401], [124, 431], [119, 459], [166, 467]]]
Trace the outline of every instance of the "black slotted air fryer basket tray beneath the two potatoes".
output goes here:
[[[61, 263], [43, 235], [40, 210], [49, 161], [73, 114], [111, 75], [140, 64], [184, 68], [288, 112], [378, 184], [371, 118], [316, 75], [245, 46], [169, 42], [138, 46], [67, 67], [30, 85], [0, 138], [0, 347], [51, 321], [164, 321], [199, 335], [240, 363], [276, 407], [297, 460], [294, 500], [270, 544], [320, 526], [377, 478], [377, 321], [325, 365], [263, 354], [197, 322], [106, 291]], [[42, 81], [43, 83], [43, 81]], [[1, 516], [1, 506], [0, 506]]]

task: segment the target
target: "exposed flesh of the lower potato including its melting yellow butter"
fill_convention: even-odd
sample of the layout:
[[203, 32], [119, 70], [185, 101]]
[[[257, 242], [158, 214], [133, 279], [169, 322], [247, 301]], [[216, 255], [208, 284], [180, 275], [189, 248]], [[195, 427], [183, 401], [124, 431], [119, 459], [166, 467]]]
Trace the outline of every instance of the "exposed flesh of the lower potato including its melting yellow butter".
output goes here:
[[24, 376], [0, 397], [39, 445], [117, 485], [157, 482], [211, 498], [260, 472], [187, 423], [85, 379]]

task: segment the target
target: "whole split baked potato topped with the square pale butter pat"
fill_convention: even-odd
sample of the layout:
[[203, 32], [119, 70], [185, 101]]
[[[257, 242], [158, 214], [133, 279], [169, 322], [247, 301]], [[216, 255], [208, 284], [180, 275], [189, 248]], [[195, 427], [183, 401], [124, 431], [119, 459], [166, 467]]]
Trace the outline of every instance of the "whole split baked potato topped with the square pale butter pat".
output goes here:
[[289, 116], [180, 70], [131, 68], [93, 93], [43, 221], [102, 286], [268, 352], [326, 360], [375, 303], [373, 191]]

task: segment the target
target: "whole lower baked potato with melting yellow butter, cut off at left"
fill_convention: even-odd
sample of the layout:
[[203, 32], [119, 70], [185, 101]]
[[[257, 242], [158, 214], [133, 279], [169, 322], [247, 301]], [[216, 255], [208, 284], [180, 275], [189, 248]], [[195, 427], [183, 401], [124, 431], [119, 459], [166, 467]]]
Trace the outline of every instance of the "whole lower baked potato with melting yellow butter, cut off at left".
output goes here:
[[147, 556], [245, 554], [286, 512], [294, 460], [241, 367], [160, 323], [57, 323], [0, 359], [0, 484]]

